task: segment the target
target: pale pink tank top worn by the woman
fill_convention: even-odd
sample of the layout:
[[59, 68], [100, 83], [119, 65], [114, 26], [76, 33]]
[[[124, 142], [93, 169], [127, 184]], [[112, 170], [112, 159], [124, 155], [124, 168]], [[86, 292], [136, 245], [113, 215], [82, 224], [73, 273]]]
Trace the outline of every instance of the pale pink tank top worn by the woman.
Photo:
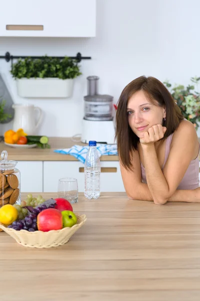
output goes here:
[[[166, 160], [168, 158], [172, 136], [173, 136], [173, 133], [170, 134], [166, 138], [164, 163], [161, 167], [161, 170], [163, 170]], [[200, 149], [200, 143], [199, 143], [199, 149]], [[199, 150], [198, 150], [198, 154], [199, 154]], [[142, 181], [142, 183], [146, 183], [145, 168], [143, 167], [141, 162], [140, 162], [140, 165], [141, 165], [141, 181]], [[197, 155], [196, 159], [194, 159], [190, 162], [177, 189], [198, 188], [199, 187], [199, 175], [198, 174], [199, 174], [199, 162], [198, 162], [198, 155]]]

